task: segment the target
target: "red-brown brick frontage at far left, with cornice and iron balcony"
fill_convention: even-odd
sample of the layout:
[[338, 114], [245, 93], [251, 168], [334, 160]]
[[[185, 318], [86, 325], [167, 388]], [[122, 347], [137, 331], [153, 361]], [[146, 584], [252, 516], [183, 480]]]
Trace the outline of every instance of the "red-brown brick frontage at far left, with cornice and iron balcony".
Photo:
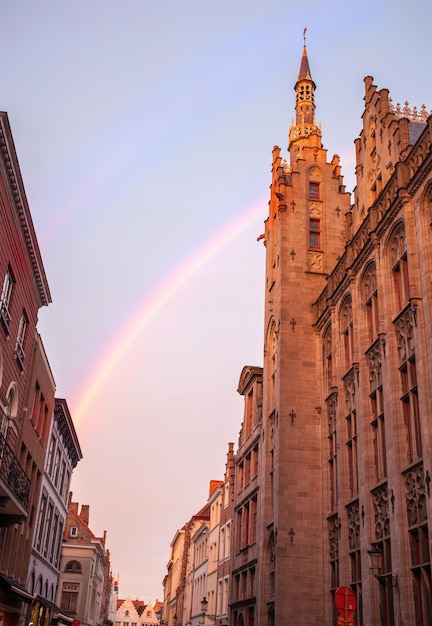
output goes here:
[[0, 113], [0, 237], [0, 615], [10, 626], [33, 600], [25, 585], [54, 382], [36, 331], [51, 296], [6, 113]]

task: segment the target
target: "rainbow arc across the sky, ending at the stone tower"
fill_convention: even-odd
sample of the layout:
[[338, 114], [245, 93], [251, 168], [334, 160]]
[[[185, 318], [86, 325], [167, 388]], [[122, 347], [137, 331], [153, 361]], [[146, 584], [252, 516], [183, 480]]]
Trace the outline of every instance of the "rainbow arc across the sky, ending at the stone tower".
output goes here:
[[190, 281], [197, 272], [211, 259], [229, 246], [237, 237], [252, 226], [258, 219], [265, 219], [265, 202], [259, 202], [252, 209], [241, 214], [233, 222], [219, 231], [206, 243], [189, 256], [161, 286], [149, 294], [144, 302], [127, 321], [124, 328], [114, 338], [110, 347], [102, 355], [90, 377], [79, 391], [73, 403], [75, 424], [79, 424], [89, 414], [115, 369], [122, 362], [128, 351], [135, 345], [138, 337], [146, 330], [159, 311]]

